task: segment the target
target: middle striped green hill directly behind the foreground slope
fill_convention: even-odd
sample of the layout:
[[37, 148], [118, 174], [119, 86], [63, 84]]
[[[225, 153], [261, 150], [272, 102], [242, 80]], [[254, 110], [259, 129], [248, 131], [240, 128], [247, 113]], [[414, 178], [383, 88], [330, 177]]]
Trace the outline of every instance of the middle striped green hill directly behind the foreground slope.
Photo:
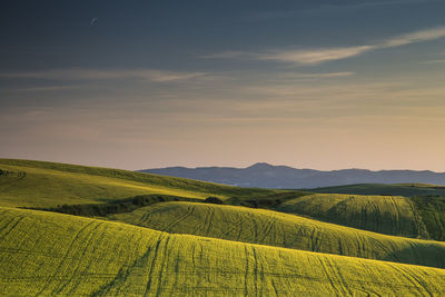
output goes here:
[[445, 268], [445, 242], [380, 235], [266, 209], [165, 202], [111, 218], [174, 234]]

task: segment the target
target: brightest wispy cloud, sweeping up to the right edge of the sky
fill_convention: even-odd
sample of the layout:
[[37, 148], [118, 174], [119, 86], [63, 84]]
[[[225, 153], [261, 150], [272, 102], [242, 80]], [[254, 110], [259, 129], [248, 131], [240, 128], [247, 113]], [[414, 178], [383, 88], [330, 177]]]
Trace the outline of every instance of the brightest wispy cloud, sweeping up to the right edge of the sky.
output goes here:
[[285, 63], [297, 65], [318, 65], [327, 61], [343, 60], [365, 52], [407, 46], [417, 42], [436, 40], [445, 37], [445, 27], [437, 27], [426, 30], [414, 31], [389, 38], [384, 41], [374, 42], [365, 46], [343, 47], [343, 48], [318, 48], [305, 50], [270, 50], [263, 52], [251, 51], [226, 51], [208, 55], [207, 59], [250, 59], [250, 60], [271, 60]]

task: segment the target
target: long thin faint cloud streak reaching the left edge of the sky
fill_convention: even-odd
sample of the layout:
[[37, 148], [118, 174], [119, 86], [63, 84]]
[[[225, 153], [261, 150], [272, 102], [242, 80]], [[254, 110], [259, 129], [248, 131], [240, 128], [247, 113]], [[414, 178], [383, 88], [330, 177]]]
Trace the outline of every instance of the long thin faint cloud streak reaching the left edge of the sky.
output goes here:
[[206, 76], [206, 72], [175, 72], [164, 70], [95, 70], [63, 69], [47, 71], [2, 72], [0, 78], [48, 79], [48, 80], [108, 80], [137, 79], [154, 82], [190, 80]]

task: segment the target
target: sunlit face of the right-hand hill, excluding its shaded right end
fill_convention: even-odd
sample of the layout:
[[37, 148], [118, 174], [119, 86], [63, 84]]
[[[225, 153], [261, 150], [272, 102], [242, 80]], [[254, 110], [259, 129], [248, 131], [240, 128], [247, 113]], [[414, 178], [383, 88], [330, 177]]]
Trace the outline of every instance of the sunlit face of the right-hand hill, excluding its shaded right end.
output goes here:
[[415, 206], [400, 196], [316, 194], [285, 201], [277, 210], [380, 234], [427, 238]]

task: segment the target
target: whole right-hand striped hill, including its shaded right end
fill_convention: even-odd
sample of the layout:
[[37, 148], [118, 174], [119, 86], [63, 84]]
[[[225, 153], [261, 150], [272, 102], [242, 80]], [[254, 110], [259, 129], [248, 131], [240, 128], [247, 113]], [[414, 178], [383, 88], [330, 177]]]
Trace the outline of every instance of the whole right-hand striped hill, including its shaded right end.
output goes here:
[[288, 199], [275, 209], [380, 234], [445, 241], [445, 196], [315, 194]]

